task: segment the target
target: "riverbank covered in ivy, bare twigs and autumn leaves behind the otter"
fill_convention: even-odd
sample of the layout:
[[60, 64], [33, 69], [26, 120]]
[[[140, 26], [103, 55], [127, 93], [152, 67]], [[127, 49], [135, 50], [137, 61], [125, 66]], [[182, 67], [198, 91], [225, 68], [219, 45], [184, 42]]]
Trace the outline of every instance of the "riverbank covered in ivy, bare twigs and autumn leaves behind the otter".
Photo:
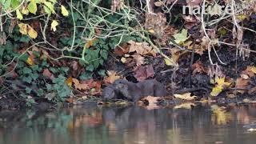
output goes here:
[[155, 78], [166, 99], [254, 101], [252, 0], [0, 3], [1, 106], [101, 98], [118, 78]]

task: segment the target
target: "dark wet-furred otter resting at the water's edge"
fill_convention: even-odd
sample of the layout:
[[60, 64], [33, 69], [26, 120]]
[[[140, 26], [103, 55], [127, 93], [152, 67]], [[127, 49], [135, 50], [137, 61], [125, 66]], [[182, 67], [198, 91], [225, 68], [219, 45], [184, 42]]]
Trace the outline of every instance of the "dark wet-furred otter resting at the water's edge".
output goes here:
[[167, 91], [161, 82], [154, 79], [145, 80], [143, 82], [128, 82], [123, 79], [116, 80], [112, 85], [106, 86], [102, 96], [106, 99], [127, 98], [133, 102], [137, 102], [140, 98], [146, 96], [162, 97], [166, 96]]

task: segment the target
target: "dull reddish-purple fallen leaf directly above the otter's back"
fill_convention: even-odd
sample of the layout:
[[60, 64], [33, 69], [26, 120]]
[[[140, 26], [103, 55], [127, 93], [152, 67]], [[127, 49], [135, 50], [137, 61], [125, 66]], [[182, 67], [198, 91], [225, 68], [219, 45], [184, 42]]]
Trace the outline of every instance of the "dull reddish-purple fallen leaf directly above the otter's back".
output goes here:
[[152, 65], [140, 66], [135, 72], [135, 78], [138, 82], [144, 81], [146, 78], [154, 77], [154, 69]]

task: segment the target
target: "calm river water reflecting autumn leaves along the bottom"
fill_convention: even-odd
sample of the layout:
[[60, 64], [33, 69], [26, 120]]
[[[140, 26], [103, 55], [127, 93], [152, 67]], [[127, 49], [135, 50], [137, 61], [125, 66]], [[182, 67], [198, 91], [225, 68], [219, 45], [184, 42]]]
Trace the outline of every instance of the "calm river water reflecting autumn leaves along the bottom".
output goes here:
[[54, 110], [1, 111], [0, 144], [6, 143], [254, 143], [242, 126], [256, 122], [256, 106], [142, 107], [82, 106]]

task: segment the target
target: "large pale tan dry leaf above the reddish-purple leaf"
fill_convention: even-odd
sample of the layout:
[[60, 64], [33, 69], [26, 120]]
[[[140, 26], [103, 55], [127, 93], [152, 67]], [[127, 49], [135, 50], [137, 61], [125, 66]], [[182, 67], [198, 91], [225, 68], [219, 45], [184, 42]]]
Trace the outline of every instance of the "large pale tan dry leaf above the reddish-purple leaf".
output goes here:
[[128, 43], [130, 44], [129, 53], [136, 52], [137, 54], [141, 55], [151, 54], [152, 56], [156, 57], [155, 50], [149, 46], [147, 42], [129, 41]]

